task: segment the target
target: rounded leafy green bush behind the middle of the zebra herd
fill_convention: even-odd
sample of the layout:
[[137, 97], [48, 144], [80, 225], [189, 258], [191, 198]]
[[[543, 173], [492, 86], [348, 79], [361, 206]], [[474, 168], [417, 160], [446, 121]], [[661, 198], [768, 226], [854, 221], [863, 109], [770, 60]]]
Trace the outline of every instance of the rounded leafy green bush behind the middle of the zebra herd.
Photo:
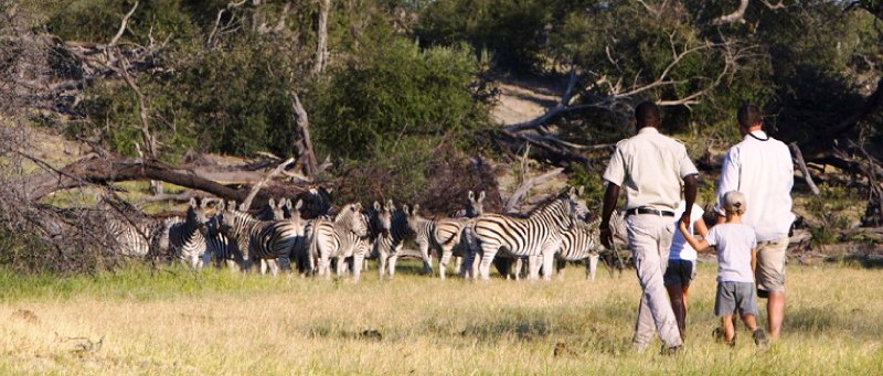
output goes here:
[[405, 137], [469, 142], [488, 121], [474, 98], [478, 62], [466, 47], [421, 51], [393, 39], [334, 72], [311, 109], [321, 152], [364, 160], [411, 150]]

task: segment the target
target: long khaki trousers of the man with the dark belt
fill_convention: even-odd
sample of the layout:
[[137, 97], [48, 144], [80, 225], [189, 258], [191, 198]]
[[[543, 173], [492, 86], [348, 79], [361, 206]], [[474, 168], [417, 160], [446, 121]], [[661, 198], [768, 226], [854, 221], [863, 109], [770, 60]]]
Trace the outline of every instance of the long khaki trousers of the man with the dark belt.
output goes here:
[[626, 218], [628, 244], [642, 290], [631, 340], [639, 350], [647, 347], [653, 332], [659, 333], [667, 347], [682, 344], [662, 278], [669, 259], [674, 221], [674, 217], [657, 214], [635, 214]]

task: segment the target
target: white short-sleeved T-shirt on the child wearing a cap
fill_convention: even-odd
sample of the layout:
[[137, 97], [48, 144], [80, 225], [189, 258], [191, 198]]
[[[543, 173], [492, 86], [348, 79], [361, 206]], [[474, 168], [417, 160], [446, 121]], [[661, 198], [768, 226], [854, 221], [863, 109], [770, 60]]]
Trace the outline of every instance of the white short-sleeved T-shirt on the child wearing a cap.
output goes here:
[[723, 223], [712, 227], [705, 241], [717, 247], [717, 281], [754, 283], [752, 248], [757, 247], [754, 229], [745, 224]]

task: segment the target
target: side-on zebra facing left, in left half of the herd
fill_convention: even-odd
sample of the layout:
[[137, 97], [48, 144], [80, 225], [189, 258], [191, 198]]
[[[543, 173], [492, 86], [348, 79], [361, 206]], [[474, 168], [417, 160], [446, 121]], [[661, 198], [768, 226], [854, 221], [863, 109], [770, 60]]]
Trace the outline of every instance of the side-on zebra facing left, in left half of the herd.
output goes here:
[[255, 259], [270, 260], [260, 264], [262, 275], [266, 273], [267, 266], [273, 276], [278, 275], [275, 260], [287, 259], [298, 237], [304, 236], [302, 227], [290, 221], [259, 221], [248, 213], [226, 207], [223, 202], [219, 203], [215, 217], [221, 234], [242, 253], [243, 269], [251, 269]]

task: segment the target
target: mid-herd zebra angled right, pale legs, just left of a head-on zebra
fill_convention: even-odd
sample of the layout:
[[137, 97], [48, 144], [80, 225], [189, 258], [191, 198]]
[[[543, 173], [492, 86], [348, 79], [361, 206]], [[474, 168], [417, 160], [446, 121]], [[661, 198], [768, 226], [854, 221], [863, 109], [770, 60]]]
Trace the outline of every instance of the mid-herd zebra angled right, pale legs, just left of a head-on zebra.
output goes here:
[[353, 257], [353, 277], [359, 280], [362, 262], [369, 251], [364, 240], [368, 236], [368, 216], [362, 213], [362, 204], [343, 206], [334, 221], [317, 219], [309, 225], [308, 239], [310, 257], [318, 259], [319, 276], [331, 278], [330, 258], [338, 260], [338, 277], [345, 269], [343, 259]]

